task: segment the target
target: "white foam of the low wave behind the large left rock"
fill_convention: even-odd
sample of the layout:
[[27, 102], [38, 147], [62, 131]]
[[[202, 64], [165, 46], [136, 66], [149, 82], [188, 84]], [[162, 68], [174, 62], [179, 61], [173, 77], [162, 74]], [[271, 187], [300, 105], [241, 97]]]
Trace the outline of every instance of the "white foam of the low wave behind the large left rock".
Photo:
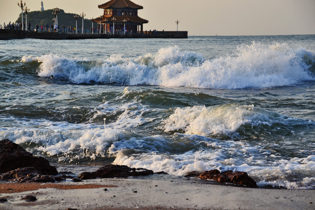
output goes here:
[[17, 144], [34, 143], [31, 152], [44, 152], [49, 156], [59, 156], [60, 162], [77, 162], [82, 158], [95, 159], [106, 156], [111, 142], [124, 138], [123, 130], [112, 128], [85, 128], [82, 130], [57, 130], [25, 128], [21, 130], [0, 131], [1, 138], [15, 139]]

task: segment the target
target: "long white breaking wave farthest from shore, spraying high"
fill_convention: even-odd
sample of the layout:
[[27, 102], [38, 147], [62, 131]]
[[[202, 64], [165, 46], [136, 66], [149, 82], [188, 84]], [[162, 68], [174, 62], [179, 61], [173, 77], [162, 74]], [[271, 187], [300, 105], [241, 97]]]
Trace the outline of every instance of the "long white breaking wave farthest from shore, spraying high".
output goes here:
[[[40, 77], [64, 78], [74, 83], [120, 83], [195, 88], [270, 88], [314, 80], [308, 62], [314, 53], [286, 43], [241, 45], [235, 54], [204, 60], [201, 54], [162, 48], [135, 60], [114, 54], [104, 61], [67, 59], [47, 54], [37, 57]], [[27, 60], [23, 57], [22, 60]], [[87, 62], [87, 63], [86, 63]]]

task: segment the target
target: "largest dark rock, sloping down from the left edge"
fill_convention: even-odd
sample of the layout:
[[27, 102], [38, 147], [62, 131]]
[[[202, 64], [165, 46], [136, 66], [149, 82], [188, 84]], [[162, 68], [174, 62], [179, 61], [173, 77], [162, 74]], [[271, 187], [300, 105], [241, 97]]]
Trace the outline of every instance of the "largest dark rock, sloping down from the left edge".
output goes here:
[[0, 141], [0, 173], [7, 173], [22, 167], [34, 167], [40, 174], [56, 175], [57, 169], [43, 157], [35, 157], [20, 145], [8, 139]]

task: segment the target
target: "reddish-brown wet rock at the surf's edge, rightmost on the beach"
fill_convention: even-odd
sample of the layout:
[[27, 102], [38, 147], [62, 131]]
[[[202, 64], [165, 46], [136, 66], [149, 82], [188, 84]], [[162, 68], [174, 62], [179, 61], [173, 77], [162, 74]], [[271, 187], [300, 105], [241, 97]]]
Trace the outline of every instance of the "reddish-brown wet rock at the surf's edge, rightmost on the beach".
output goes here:
[[248, 176], [246, 172], [243, 171], [225, 171], [221, 172], [219, 170], [205, 171], [199, 176], [201, 179], [213, 179], [221, 183], [234, 183], [241, 184], [247, 187], [258, 188], [254, 179]]

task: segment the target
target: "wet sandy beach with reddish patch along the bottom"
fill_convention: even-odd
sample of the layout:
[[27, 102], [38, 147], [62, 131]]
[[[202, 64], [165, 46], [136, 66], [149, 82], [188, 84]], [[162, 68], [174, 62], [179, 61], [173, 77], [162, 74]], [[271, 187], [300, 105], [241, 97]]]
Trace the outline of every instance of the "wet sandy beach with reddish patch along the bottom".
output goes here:
[[[0, 190], [0, 198], [8, 200], [0, 203], [0, 209], [315, 209], [314, 190], [243, 188], [169, 175], [80, 183], [2, 183]], [[21, 200], [26, 195], [36, 196], [37, 201]]]

